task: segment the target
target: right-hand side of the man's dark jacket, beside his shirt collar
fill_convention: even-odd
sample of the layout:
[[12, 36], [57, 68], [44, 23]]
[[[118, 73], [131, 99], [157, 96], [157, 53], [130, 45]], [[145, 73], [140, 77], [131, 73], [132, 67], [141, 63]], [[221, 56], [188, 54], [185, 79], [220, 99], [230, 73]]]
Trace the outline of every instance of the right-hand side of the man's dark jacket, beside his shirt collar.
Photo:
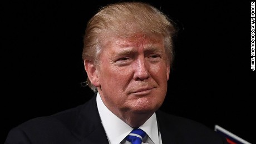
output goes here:
[[157, 111], [156, 116], [163, 137], [179, 143], [227, 143], [223, 136], [202, 123], [163, 111]]

